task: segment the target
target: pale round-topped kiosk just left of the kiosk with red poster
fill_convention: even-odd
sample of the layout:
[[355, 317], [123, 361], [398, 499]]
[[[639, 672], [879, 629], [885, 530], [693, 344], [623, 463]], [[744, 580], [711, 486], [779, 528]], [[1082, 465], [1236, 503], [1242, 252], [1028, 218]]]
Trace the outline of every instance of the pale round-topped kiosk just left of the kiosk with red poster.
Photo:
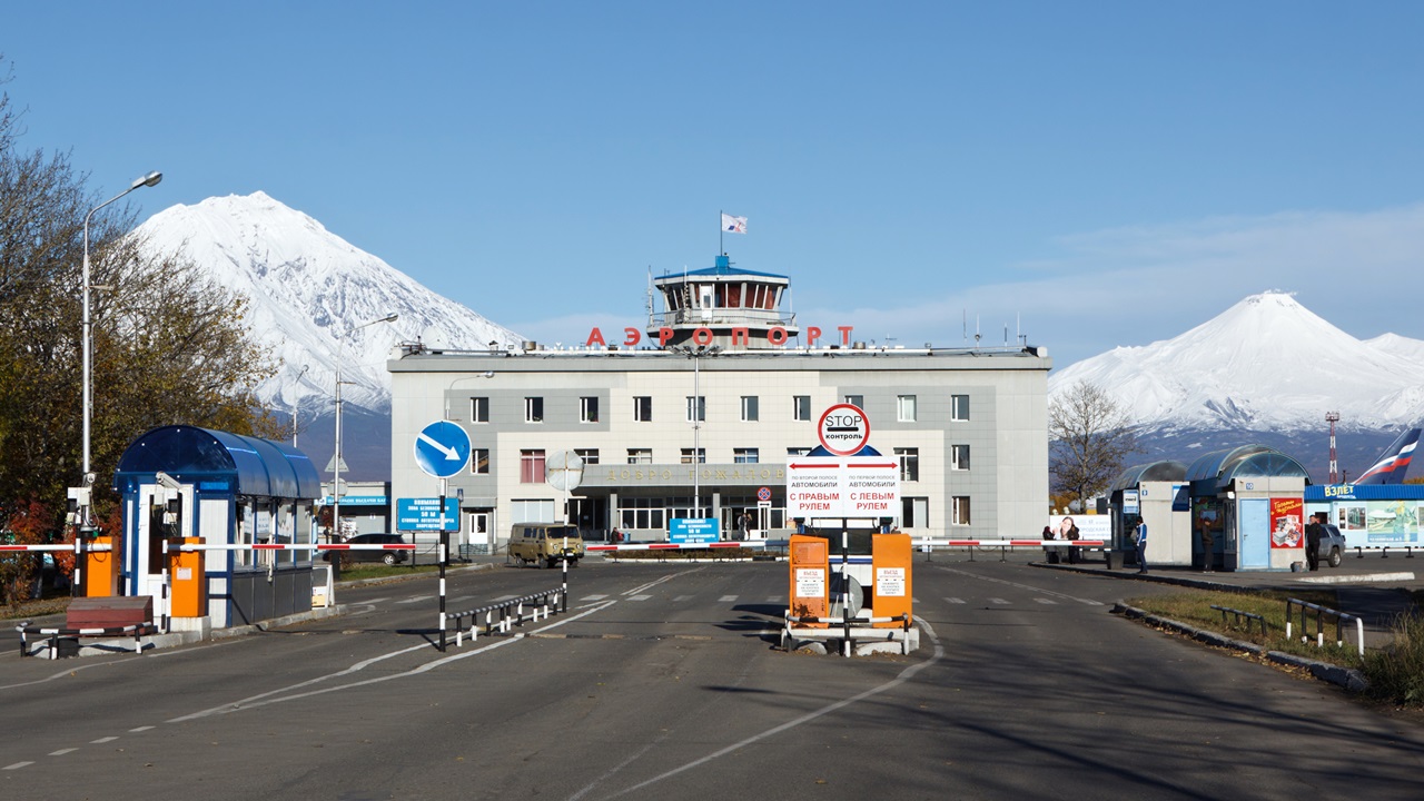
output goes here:
[[[1148, 524], [1148, 566], [1195, 563], [1192, 516], [1188, 503], [1186, 463], [1149, 462], [1122, 470], [1108, 490], [1112, 509], [1112, 553], [1122, 562], [1136, 559], [1128, 533], [1141, 516]], [[1109, 564], [1118, 564], [1109, 557]]]

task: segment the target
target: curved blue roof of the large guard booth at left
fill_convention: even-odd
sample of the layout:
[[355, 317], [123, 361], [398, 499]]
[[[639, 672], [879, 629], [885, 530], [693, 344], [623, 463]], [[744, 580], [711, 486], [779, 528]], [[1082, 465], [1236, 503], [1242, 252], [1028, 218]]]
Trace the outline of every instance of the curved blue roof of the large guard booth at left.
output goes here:
[[263, 497], [320, 497], [322, 479], [300, 450], [255, 436], [198, 426], [164, 426], [128, 445], [114, 472], [122, 492], [125, 475], [162, 470], [175, 479], [226, 477], [235, 495]]

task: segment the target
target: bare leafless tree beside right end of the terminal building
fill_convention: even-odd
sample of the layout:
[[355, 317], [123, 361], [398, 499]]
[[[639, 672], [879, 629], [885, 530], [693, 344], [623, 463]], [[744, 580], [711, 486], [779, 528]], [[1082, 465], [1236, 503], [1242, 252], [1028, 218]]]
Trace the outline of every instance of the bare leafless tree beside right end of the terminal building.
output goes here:
[[1108, 489], [1141, 450], [1126, 409], [1101, 386], [1079, 382], [1048, 405], [1048, 475], [1054, 492], [1078, 503]]

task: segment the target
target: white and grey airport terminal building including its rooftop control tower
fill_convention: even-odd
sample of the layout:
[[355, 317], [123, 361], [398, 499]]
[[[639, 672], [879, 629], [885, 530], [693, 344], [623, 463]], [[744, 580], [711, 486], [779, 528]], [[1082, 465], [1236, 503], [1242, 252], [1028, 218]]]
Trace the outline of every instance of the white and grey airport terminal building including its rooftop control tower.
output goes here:
[[[1038, 534], [1048, 509], [1044, 349], [867, 346], [850, 326], [797, 325], [787, 289], [786, 277], [723, 255], [654, 279], [641, 329], [594, 329], [572, 348], [403, 348], [387, 365], [392, 496], [439, 495], [414, 442], [451, 420], [471, 440], [468, 466], [449, 479], [454, 544], [497, 547], [514, 523], [562, 520], [565, 503], [590, 539], [618, 529], [664, 540], [684, 517], [733, 532], [743, 513], [753, 532], [778, 537], [795, 526], [787, 458], [817, 445], [824, 409], [853, 403], [869, 418], [869, 445], [899, 462], [901, 530]], [[564, 469], [577, 462], [581, 473]]]

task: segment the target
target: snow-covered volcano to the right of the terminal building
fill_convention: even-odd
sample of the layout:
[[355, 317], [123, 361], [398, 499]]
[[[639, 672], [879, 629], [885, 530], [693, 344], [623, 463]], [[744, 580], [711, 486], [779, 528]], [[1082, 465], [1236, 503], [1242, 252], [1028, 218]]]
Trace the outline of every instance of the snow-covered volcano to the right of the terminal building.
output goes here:
[[1424, 342], [1360, 341], [1292, 295], [1252, 295], [1176, 336], [1115, 348], [1055, 372], [1049, 400], [1105, 388], [1148, 430], [1397, 429], [1424, 418]]

